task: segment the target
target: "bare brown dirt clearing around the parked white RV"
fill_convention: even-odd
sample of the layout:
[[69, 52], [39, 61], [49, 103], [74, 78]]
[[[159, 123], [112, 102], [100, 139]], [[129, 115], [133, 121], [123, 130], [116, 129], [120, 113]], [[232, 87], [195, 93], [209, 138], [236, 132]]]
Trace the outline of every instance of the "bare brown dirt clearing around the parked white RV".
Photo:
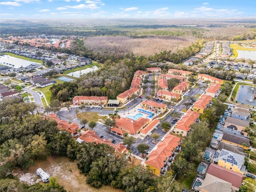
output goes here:
[[50, 156], [44, 161], [36, 161], [35, 165], [31, 166], [28, 171], [17, 170], [13, 174], [20, 181], [35, 184], [40, 181], [40, 176], [36, 174], [39, 167], [48, 172], [51, 177], [55, 177], [58, 184], [70, 192], [124, 192], [124, 190], [110, 186], [102, 186], [100, 189], [92, 188], [86, 184], [86, 177], [79, 173], [76, 161], [71, 162], [67, 157]]

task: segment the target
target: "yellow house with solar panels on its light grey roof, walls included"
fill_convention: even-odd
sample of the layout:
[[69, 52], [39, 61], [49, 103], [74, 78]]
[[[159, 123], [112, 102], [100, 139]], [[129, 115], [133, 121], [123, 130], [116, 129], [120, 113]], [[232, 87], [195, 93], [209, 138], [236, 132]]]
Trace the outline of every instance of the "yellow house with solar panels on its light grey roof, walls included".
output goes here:
[[213, 163], [240, 174], [244, 174], [246, 169], [243, 155], [225, 149], [216, 151]]

